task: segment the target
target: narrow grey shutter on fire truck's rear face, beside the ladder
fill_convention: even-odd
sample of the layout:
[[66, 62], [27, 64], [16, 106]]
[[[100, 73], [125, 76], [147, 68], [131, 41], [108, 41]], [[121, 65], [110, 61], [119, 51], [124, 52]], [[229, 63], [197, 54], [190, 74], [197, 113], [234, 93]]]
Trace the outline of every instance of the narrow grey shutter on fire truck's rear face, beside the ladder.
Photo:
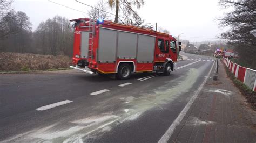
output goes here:
[[88, 43], [89, 42], [89, 31], [81, 32], [81, 56], [87, 58], [88, 55]]

